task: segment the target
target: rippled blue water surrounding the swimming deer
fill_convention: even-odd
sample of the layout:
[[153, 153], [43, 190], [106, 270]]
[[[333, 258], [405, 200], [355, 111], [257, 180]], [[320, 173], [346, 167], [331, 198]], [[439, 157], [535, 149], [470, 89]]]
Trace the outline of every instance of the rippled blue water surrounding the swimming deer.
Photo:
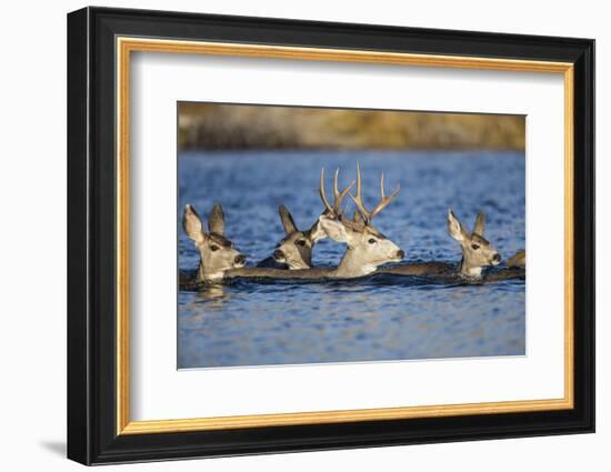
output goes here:
[[[278, 205], [308, 229], [322, 210], [320, 168], [328, 169], [330, 193], [332, 170], [341, 168], [345, 184], [354, 179], [357, 160], [369, 207], [379, 199], [380, 172], [388, 191], [401, 183], [374, 223], [405, 251], [405, 261], [460, 261], [460, 247], [447, 232], [449, 208], [468, 228], [484, 211], [484, 235], [503, 258], [525, 247], [523, 153], [189, 152], [179, 155], [179, 268], [196, 269], [199, 261], [180, 229], [186, 203], [203, 215], [221, 202], [228, 238], [253, 265], [283, 237]], [[313, 263], [335, 265], [343, 251], [327, 239], [314, 248]], [[181, 369], [524, 354], [521, 280], [247, 281], [181, 291], [178, 304]]]

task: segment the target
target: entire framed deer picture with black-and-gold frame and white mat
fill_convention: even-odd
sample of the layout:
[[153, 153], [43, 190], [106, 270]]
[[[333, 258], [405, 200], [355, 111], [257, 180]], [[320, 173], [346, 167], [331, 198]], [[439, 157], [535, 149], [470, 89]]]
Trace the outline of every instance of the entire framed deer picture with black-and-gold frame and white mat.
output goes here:
[[593, 67], [589, 39], [70, 13], [68, 456], [593, 432]]

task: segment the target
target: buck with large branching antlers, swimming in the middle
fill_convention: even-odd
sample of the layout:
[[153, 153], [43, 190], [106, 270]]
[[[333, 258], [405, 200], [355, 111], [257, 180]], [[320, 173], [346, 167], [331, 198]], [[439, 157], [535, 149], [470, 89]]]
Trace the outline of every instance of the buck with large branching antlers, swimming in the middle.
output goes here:
[[[404, 252], [391, 240], [384, 237], [373, 227], [371, 221], [379, 214], [399, 193], [399, 185], [390, 194], [384, 193], [384, 177], [380, 179], [381, 201], [369, 211], [362, 200], [361, 170], [357, 165], [357, 195], [350, 193], [352, 187], [349, 185], [343, 191], [339, 191], [337, 184], [338, 172], [335, 172], [333, 193], [333, 205], [329, 203], [324, 192], [324, 169], [320, 172], [319, 193], [324, 203], [325, 212], [320, 215], [319, 222], [322, 230], [333, 241], [347, 244], [343, 254], [337, 268], [313, 268], [308, 270], [283, 271], [276, 269], [237, 269], [228, 272], [228, 277], [253, 277], [272, 279], [353, 279], [364, 277], [375, 271], [375, 269], [387, 262], [399, 262], [404, 257]], [[358, 218], [349, 219], [341, 211], [341, 203], [345, 194], [349, 194], [358, 207]]]

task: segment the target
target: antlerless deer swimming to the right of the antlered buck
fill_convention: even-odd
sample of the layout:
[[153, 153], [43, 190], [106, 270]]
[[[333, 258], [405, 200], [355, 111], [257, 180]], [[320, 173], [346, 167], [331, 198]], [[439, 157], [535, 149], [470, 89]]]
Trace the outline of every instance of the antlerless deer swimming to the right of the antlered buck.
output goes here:
[[[401, 264], [391, 268], [380, 269], [380, 273], [392, 273], [397, 275], [460, 275], [463, 279], [480, 280], [482, 269], [501, 263], [501, 254], [483, 237], [484, 215], [478, 213], [473, 231], [467, 230], [452, 210], [448, 211], [448, 232], [460, 242], [462, 249], [462, 260], [457, 268], [445, 262], [423, 262]], [[504, 278], [515, 278], [523, 275], [520, 271], [503, 271], [499, 275], [491, 274], [490, 280], [501, 280]], [[487, 278], [488, 280], [489, 278]]]

